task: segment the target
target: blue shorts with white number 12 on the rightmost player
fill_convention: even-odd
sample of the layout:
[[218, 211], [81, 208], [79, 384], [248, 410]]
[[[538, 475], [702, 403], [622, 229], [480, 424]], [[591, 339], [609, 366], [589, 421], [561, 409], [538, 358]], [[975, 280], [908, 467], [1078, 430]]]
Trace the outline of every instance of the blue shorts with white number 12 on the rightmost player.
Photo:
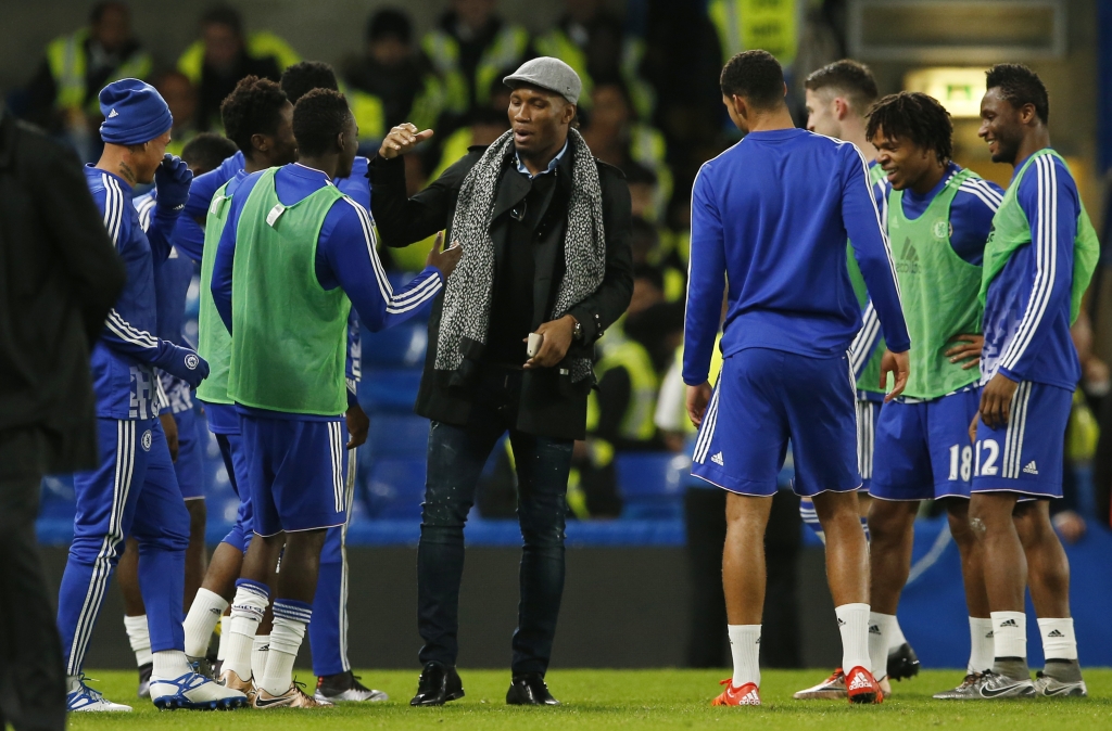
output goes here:
[[1031, 381], [1020, 383], [1006, 425], [989, 429], [977, 422], [973, 492], [1061, 498], [1065, 427], [1072, 408], [1072, 391]]

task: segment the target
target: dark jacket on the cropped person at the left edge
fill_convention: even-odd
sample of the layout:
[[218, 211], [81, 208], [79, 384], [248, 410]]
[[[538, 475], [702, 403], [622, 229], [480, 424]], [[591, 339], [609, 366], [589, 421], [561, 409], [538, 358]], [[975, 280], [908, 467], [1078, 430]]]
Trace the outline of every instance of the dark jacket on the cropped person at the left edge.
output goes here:
[[48, 432], [46, 471], [99, 462], [89, 352], [123, 280], [77, 156], [0, 110], [0, 439]]

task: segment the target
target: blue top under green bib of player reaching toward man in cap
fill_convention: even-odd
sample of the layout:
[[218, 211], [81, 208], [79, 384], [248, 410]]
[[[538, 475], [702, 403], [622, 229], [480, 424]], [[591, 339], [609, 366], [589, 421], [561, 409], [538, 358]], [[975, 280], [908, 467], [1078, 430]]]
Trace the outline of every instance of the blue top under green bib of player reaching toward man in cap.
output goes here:
[[[229, 191], [234, 192], [231, 209], [214, 263], [210, 284], [212, 300], [229, 332], [231, 332], [234, 297], [231, 274], [236, 256], [236, 231], [244, 204], [259, 177], [260, 173], [242, 177], [235, 191]], [[324, 172], [298, 163], [284, 167], [275, 176], [275, 189], [278, 199], [285, 206], [292, 206], [327, 184], [330, 183]], [[373, 332], [399, 324], [418, 314], [444, 287], [440, 271], [436, 267], [427, 267], [405, 288], [395, 292], [376, 251], [370, 213], [347, 197], [336, 201], [325, 216], [317, 242], [315, 269], [317, 280], [322, 288], [344, 289], [359, 319]], [[354, 329], [349, 323], [348, 377], [356, 380], [358, 366], [354, 362], [351, 352], [353, 330], [357, 334], [358, 329]], [[356, 348], [358, 348], [357, 340], [356, 338]]]

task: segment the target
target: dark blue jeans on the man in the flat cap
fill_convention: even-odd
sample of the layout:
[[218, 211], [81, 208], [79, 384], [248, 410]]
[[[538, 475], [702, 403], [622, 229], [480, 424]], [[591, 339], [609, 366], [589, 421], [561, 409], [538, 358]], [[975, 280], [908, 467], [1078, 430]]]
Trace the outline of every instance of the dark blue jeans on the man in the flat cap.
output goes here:
[[464, 524], [483, 467], [509, 431], [524, 542], [512, 669], [514, 674], [548, 669], [564, 593], [564, 518], [573, 442], [517, 431], [520, 391], [520, 371], [487, 368], [467, 425], [434, 421], [429, 429], [428, 479], [417, 549], [417, 625], [425, 640], [421, 663], [456, 664]]

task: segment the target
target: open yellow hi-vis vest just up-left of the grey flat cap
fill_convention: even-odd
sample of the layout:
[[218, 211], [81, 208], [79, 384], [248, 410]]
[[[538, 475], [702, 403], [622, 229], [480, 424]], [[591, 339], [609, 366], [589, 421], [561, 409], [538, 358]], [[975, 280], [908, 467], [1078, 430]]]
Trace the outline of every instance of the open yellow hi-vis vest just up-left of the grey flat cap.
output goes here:
[[490, 84], [504, 71], [513, 71], [525, 57], [529, 44], [529, 32], [520, 26], [503, 23], [494, 41], [483, 50], [483, 57], [475, 68], [475, 78], [467, 79], [459, 68], [459, 42], [444, 30], [429, 31], [421, 39], [421, 49], [433, 61], [445, 83], [445, 101], [448, 111], [465, 112], [468, 107], [468, 89], [475, 89], [475, 103], [485, 106], [490, 101]]

